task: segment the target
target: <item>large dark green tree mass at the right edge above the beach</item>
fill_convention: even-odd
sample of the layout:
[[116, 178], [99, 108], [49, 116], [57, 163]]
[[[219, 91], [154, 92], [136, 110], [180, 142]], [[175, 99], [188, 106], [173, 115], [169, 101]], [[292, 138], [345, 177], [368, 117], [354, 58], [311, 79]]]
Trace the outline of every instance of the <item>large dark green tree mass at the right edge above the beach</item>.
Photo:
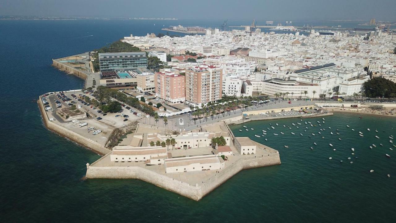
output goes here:
[[[367, 97], [389, 98], [396, 93], [396, 83], [382, 77], [375, 77], [363, 84], [364, 93]], [[386, 89], [386, 90], [385, 90]]]

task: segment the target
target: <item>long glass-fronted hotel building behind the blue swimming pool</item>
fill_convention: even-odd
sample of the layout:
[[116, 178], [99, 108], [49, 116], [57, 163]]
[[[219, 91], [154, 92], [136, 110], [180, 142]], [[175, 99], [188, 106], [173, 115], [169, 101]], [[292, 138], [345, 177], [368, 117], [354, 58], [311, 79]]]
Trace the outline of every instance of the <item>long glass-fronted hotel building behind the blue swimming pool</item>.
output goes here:
[[146, 52], [99, 53], [100, 72], [147, 67]]

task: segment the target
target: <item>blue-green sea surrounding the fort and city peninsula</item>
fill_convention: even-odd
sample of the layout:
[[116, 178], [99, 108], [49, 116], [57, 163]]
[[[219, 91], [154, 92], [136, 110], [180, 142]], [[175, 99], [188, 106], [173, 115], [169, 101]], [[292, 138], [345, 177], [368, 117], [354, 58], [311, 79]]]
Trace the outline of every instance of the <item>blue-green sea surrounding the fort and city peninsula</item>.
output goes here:
[[[198, 202], [137, 179], [82, 180], [86, 163], [100, 156], [46, 129], [36, 100], [49, 91], [82, 88], [84, 81], [55, 69], [51, 59], [97, 49], [130, 34], [166, 33], [161, 31], [164, 26], [217, 27], [222, 23], [0, 21], [0, 221], [394, 222], [396, 148], [389, 149], [392, 144], [388, 136], [396, 135], [396, 120], [388, 117], [359, 119], [354, 114], [335, 114], [325, 117], [321, 127], [304, 124], [311, 121], [318, 125], [320, 118], [242, 124], [254, 129], [249, 131], [242, 125], [232, 126], [236, 136], [248, 136], [279, 150], [282, 164], [241, 171]], [[250, 23], [228, 20], [228, 25]], [[314, 22], [301, 21], [305, 23]], [[305, 126], [309, 127], [307, 132]], [[320, 128], [326, 130], [318, 134]], [[268, 132], [266, 137], [254, 136], [261, 135], [262, 130]], [[284, 135], [272, 134], [280, 131]], [[291, 135], [292, 131], [295, 135]], [[358, 131], [364, 136], [359, 136]], [[370, 149], [372, 144], [376, 147]], [[355, 149], [354, 155], [351, 148]]]

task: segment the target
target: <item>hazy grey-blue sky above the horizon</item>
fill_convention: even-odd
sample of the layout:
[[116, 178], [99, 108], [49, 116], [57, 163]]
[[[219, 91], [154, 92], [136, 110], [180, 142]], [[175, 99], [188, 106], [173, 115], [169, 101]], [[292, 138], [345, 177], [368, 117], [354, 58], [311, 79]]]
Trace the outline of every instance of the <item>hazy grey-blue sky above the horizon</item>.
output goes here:
[[0, 0], [0, 15], [396, 21], [396, 0]]

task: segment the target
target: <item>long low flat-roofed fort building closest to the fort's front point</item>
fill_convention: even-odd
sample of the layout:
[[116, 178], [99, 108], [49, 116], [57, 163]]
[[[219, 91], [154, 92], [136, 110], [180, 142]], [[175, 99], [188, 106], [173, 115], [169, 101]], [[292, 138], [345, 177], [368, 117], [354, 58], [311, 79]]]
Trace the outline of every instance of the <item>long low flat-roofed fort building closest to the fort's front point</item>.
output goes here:
[[223, 158], [216, 155], [190, 156], [165, 159], [165, 173], [183, 173], [224, 169]]

